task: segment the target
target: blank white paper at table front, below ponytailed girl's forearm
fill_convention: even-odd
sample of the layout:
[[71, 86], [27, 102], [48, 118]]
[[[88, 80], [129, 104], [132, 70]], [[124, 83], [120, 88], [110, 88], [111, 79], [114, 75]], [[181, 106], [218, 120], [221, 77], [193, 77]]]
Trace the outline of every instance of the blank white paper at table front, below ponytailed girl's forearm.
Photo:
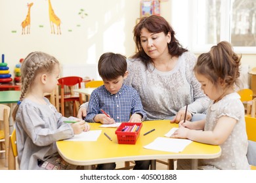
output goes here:
[[146, 149], [161, 150], [166, 152], [182, 152], [192, 141], [188, 139], [172, 139], [158, 137], [150, 144], [144, 146]]

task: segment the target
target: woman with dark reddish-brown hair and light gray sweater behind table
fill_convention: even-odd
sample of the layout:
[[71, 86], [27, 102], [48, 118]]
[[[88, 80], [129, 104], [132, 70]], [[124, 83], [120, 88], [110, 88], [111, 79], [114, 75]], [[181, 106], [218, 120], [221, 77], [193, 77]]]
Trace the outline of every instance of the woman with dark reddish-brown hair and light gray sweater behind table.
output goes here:
[[[171, 118], [178, 123], [184, 119], [186, 105], [186, 120], [201, 119], [197, 113], [205, 112], [209, 99], [194, 76], [194, 54], [182, 48], [161, 16], [142, 18], [133, 33], [138, 52], [127, 59], [125, 84], [139, 92], [147, 120]], [[84, 108], [78, 117], [82, 114], [86, 114]]]

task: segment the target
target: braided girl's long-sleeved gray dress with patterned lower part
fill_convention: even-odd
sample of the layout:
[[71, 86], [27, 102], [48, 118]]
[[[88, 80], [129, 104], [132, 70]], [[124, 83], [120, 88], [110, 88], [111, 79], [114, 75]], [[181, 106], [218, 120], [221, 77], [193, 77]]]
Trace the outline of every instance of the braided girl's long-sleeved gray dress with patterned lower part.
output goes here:
[[47, 105], [24, 99], [16, 113], [19, 169], [73, 169], [58, 156], [56, 141], [74, 136], [64, 121], [75, 118], [62, 116], [47, 98], [45, 101]]

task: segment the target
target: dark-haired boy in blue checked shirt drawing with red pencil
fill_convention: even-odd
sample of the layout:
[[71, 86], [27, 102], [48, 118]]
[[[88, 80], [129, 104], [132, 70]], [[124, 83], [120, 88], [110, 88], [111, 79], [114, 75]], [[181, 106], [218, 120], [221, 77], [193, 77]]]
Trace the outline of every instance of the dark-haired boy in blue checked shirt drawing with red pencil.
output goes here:
[[[146, 119], [139, 93], [131, 86], [123, 84], [123, 80], [128, 75], [125, 56], [111, 52], [102, 54], [98, 61], [98, 73], [104, 85], [91, 93], [85, 121], [114, 124], [115, 122], [142, 122]], [[135, 161], [135, 163], [133, 169], [148, 170], [150, 165], [149, 160]], [[115, 168], [116, 163], [104, 163], [97, 165], [96, 169]]]

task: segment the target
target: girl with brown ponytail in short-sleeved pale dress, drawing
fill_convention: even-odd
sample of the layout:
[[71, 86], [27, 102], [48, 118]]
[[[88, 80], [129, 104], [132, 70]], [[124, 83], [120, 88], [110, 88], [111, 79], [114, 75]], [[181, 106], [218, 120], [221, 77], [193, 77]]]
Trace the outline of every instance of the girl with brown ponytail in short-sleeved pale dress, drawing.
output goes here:
[[[180, 122], [173, 137], [221, 146], [221, 156], [200, 162], [200, 169], [250, 169], [246, 157], [244, 105], [234, 91], [239, 85], [240, 57], [222, 41], [198, 57], [194, 73], [211, 99], [205, 120]], [[179, 167], [179, 161], [178, 161]]]

